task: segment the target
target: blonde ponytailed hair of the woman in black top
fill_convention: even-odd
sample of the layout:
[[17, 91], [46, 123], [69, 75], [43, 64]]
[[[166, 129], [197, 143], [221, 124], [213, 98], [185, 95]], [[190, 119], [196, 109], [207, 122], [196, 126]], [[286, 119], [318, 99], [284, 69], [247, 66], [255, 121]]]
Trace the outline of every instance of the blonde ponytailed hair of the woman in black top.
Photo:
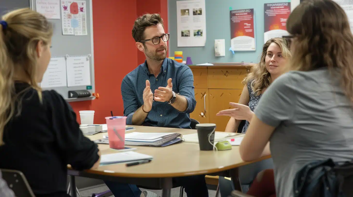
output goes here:
[[14, 115], [16, 97], [14, 75], [24, 72], [41, 99], [37, 82], [36, 47], [41, 40], [48, 44], [53, 35], [52, 25], [38, 12], [17, 9], [2, 16], [7, 25], [0, 25], [0, 145], [4, 127]]

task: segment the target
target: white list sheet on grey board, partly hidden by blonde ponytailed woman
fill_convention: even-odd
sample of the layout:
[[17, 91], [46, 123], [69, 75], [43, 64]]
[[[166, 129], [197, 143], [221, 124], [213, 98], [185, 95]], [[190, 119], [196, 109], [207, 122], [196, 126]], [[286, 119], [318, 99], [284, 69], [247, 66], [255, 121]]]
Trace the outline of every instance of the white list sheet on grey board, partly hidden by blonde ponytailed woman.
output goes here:
[[42, 88], [62, 87], [67, 85], [65, 57], [52, 57], [41, 82]]

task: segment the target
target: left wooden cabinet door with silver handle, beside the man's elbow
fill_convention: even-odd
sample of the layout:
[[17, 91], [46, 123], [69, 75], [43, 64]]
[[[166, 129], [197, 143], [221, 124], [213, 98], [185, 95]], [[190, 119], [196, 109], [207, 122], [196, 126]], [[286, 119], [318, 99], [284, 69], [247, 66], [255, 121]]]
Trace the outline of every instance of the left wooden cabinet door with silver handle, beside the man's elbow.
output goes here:
[[208, 89], [195, 88], [196, 107], [190, 114], [190, 118], [199, 121], [200, 123], [208, 123]]

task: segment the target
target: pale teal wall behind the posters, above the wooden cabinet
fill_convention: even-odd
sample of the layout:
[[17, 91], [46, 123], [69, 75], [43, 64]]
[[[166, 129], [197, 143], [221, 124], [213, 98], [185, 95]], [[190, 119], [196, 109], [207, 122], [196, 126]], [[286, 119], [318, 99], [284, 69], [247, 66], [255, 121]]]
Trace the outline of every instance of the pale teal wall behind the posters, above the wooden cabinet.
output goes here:
[[[193, 64], [213, 62], [253, 62], [257, 63], [264, 44], [264, 4], [291, 2], [290, 0], [205, 0], [206, 2], [206, 45], [204, 47], [177, 47], [177, 0], [168, 0], [169, 6], [169, 54], [174, 51], [183, 51], [184, 59], [191, 57]], [[235, 52], [229, 51], [231, 47], [231, 21], [229, 7], [233, 9], [254, 8], [256, 51]], [[215, 39], [225, 39], [226, 56], [215, 57]]]

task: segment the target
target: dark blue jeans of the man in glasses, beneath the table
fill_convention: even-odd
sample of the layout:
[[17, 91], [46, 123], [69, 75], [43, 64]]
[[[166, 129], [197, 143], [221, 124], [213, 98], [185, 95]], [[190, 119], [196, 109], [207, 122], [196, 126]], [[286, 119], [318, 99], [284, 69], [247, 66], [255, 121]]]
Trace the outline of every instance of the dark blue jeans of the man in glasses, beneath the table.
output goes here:
[[[104, 181], [115, 197], [139, 197], [141, 190], [132, 184]], [[185, 188], [188, 197], [208, 197], [204, 175], [176, 177], [173, 182]]]

